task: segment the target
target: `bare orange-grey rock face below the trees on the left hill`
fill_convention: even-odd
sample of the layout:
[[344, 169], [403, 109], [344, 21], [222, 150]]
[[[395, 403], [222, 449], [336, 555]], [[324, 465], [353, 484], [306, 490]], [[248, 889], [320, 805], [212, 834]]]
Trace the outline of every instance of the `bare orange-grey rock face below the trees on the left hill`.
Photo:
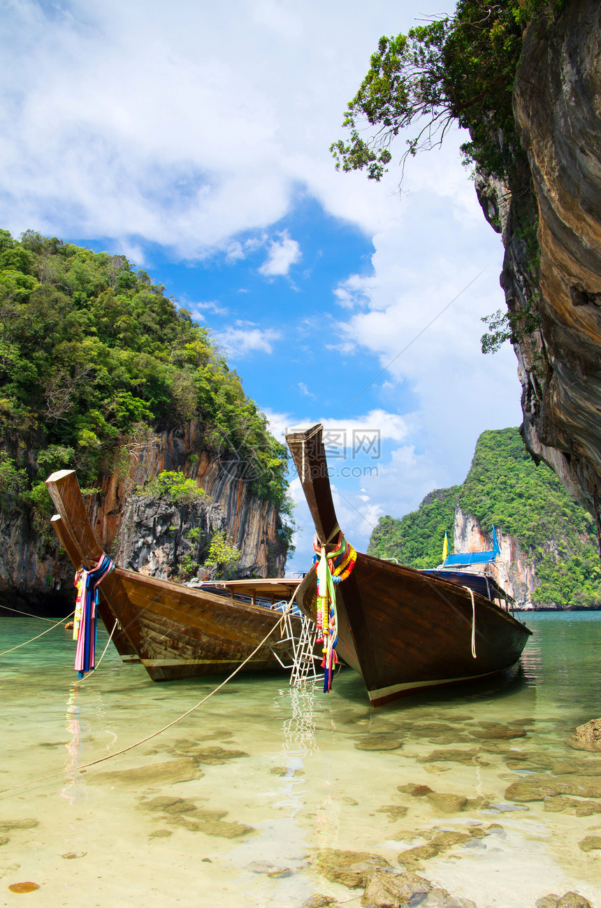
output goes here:
[[[163, 470], [197, 479], [204, 497], [188, 507], [135, 494], [136, 486]], [[86, 498], [88, 514], [96, 538], [117, 564], [153, 577], [172, 577], [186, 555], [202, 558], [216, 531], [241, 552], [235, 576], [278, 577], [287, 555], [279, 510], [252, 491], [252, 477], [251, 465], [232, 452], [206, 450], [202, 425], [192, 420], [154, 435], [118, 472], [104, 477], [102, 494]], [[71, 562], [54, 539], [40, 540], [25, 515], [5, 515], [2, 523], [0, 606], [66, 614], [74, 598]], [[197, 531], [192, 538], [191, 529]]]

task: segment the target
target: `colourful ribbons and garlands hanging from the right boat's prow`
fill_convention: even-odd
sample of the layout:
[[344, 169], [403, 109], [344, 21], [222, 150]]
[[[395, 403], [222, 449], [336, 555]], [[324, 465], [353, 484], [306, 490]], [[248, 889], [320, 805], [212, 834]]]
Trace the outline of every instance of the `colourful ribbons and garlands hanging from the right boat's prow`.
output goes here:
[[313, 549], [317, 572], [317, 642], [322, 644], [323, 692], [331, 690], [334, 667], [338, 665], [335, 646], [338, 643], [338, 614], [336, 611], [336, 584], [350, 576], [355, 567], [357, 552], [343, 537], [339, 529], [338, 539], [328, 554], [327, 543], [315, 536]]

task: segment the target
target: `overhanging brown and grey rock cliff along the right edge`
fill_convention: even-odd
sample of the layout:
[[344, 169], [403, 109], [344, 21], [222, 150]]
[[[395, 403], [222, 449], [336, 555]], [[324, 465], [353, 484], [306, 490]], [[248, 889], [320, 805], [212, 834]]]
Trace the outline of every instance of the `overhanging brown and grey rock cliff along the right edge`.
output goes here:
[[523, 435], [535, 457], [596, 515], [601, 504], [598, 0], [572, 0], [555, 22], [541, 15], [528, 26], [514, 113], [527, 164], [518, 164], [509, 186], [478, 176], [477, 191], [488, 220], [503, 235], [501, 285], [508, 310], [536, 312], [539, 321], [514, 344]]

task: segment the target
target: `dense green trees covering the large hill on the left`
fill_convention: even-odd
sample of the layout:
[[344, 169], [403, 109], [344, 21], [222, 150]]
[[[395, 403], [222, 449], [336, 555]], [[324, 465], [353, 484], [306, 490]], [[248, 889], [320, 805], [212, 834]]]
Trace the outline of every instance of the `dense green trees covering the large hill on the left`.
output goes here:
[[191, 313], [122, 255], [0, 231], [0, 386], [0, 449], [30, 489], [67, 466], [94, 488], [153, 431], [197, 419], [206, 449], [251, 464], [255, 494], [284, 502], [286, 449], [240, 377]]

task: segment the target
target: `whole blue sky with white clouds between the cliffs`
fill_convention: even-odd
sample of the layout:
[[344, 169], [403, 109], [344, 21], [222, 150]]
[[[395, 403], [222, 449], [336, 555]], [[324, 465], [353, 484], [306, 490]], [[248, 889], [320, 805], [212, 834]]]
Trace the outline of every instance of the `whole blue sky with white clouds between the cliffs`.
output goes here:
[[[453, 7], [18, 0], [0, 22], [2, 226], [123, 252], [212, 331], [277, 437], [323, 420], [345, 438], [356, 548], [520, 421], [513, 351], [479, 351], [502, 247], [461, 137], [410, 161], [402, 193], [396, 166], [369, 183], [328, 152], [379, 36]], [[377, 458], [353, 452], [369, 432]]]

